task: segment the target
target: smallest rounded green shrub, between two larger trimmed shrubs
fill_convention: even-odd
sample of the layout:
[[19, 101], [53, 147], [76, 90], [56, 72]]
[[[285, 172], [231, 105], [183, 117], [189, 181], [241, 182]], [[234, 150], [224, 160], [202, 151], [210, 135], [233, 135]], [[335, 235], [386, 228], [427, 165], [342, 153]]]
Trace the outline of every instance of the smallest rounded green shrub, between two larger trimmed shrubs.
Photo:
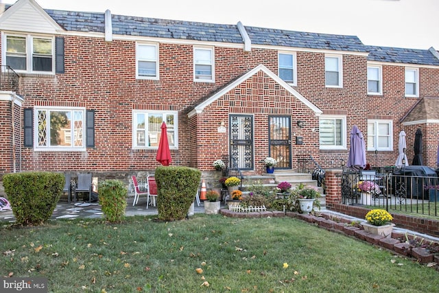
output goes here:
[[121, 180], [99, 181], [99, 204], [108, 222], [121, 222], [125, 218], [128, 190]]

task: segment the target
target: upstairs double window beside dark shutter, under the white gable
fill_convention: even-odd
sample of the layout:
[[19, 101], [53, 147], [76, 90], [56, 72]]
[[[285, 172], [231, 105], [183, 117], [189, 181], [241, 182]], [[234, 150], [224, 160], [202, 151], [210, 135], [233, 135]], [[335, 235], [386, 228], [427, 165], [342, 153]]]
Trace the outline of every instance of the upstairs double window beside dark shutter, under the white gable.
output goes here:
[[15, 71], [54, 72], [54, 38], [8, 35], [5, 40], [5, 64]]

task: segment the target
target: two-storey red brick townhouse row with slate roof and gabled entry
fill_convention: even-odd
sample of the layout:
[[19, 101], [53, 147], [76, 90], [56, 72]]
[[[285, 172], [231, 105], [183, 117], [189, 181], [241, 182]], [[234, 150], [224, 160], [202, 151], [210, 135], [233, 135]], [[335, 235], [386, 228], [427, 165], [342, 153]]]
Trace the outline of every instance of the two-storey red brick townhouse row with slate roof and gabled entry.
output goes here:
[[159, 165], [167, 124], [171, 165], [213, 171], [227, 156], [247, 172], [346, 163], [349, 132], [370, 165], [394, 165], [423, 130], [436, 166], [439, 55], [317, 34], [41, 8], [0, 15], [0, 174], [91, 171], [128, 178]]

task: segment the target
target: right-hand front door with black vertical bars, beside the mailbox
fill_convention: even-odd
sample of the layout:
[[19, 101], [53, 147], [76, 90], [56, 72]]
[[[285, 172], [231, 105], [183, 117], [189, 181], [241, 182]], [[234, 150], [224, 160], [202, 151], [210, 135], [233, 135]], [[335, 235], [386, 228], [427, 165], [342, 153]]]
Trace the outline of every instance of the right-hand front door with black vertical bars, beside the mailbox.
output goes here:
[[291, 119], [289, 116], [268, 117], [270, 156], [277, 160], [276, 169], [291, 169]]

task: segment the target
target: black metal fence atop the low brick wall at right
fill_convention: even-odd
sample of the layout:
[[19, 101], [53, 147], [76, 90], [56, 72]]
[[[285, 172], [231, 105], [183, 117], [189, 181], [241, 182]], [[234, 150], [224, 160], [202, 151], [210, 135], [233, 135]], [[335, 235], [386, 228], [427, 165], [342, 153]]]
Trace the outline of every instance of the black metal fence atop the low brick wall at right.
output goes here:
[[439, 217], [439, 178], [344, 169], [342, 203]]

